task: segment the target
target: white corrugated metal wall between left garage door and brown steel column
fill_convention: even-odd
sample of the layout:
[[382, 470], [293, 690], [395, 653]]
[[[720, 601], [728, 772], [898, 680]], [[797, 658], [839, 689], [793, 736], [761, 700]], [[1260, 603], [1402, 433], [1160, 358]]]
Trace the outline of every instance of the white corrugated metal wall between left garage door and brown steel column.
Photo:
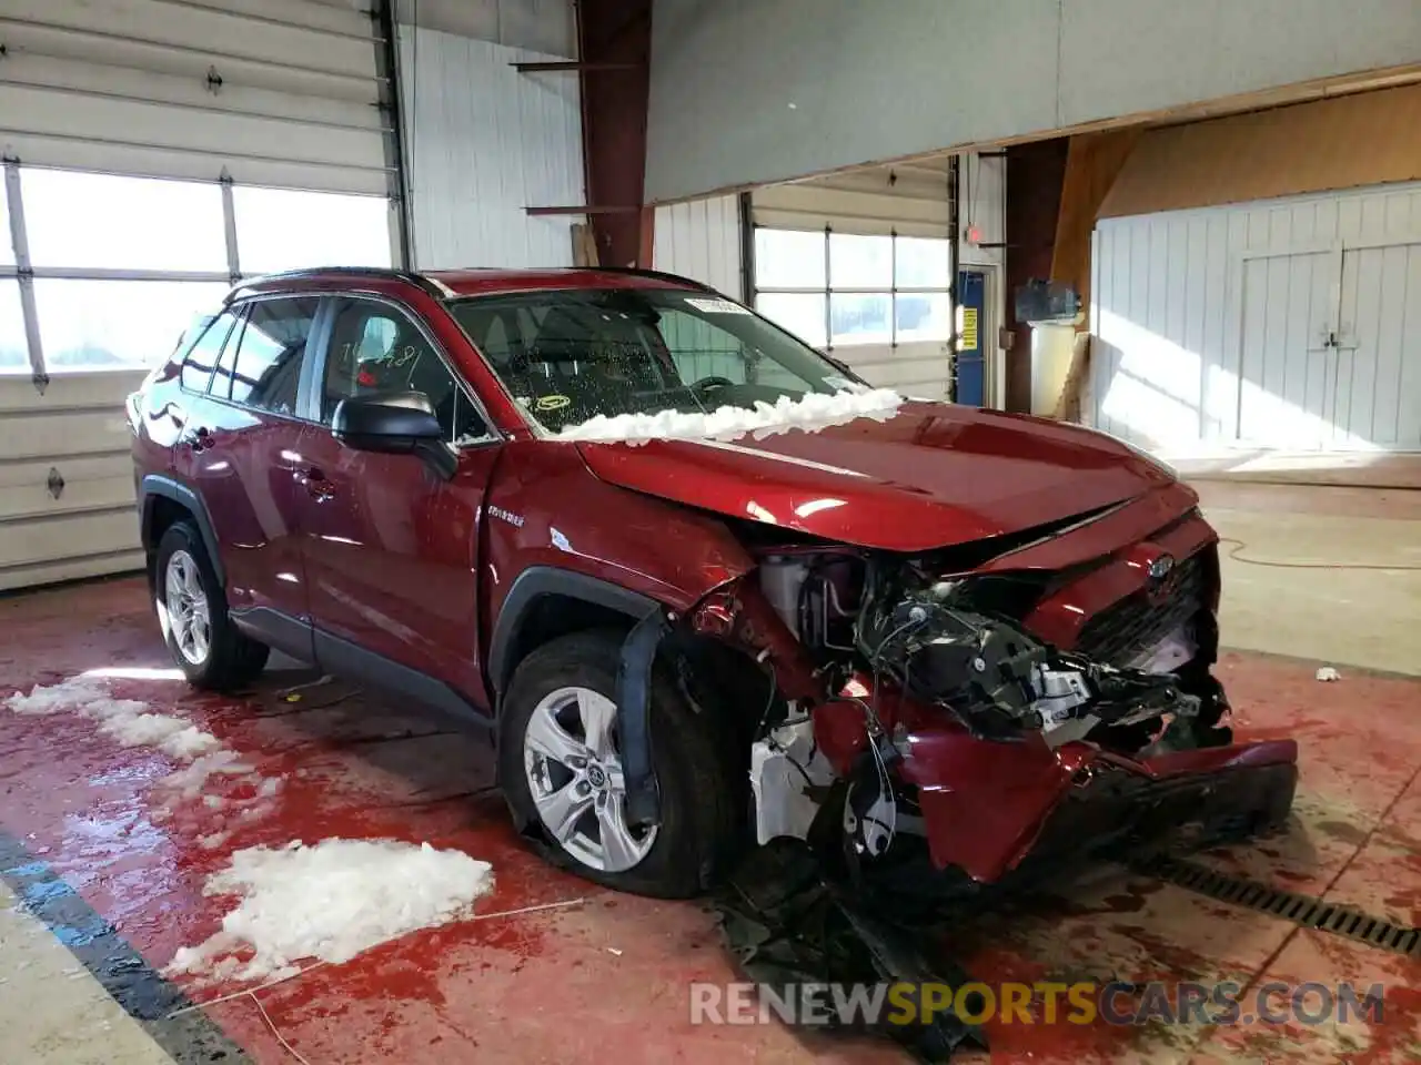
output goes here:
[[573, 264], [585, 202], [577, 75], [519, 72], [563, 57], [401, 27], [414, 257], [421, 268]]

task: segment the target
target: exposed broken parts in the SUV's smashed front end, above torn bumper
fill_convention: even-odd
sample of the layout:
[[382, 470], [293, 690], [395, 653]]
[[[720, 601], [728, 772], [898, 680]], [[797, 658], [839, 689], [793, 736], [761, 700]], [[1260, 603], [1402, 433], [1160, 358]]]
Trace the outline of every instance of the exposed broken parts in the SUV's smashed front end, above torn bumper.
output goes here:
[[[757, 838], [804, 838], [820, 799], [843, 780], [843, 829], [860, 853], [884, 855], [899, 832], [922, 834], [904, 707], [939, 714], [973, 740], [1056, 751], [1083, 741], [1134, 761], [1226, 746], [1228, 704], [1196, 629], [1169, 632], [1130, 662], [1093, 659], [1027, 632], [1030, 594], [1012, 578], [942, 575], [901, 557], [769, 554], [759, 591], [814, 676], [837, 700], [789, 700], [767, 711], [752, 747]], [[1205, 638], [1209, 632], [1204, 632]], [[854, 710], [857, 707], [857, 711]], [[855, 731], [843, 720], [857, 713]], [[826, 727], [833, 724], [833, 727]], [[850, 750], [845, 750], [845, 737]]]

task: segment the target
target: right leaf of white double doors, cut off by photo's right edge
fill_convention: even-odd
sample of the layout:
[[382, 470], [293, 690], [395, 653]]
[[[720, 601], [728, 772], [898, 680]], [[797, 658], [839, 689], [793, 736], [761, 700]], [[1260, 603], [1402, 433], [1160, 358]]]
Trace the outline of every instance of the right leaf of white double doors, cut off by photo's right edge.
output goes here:
[[1421, 243], [1347, 248], [1333, 447], [1421, 450]]

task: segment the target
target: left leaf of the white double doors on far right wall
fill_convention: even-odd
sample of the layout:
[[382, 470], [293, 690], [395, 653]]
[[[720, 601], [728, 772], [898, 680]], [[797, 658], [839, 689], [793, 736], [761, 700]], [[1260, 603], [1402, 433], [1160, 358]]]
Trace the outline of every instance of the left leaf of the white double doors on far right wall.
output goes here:
[[1337, 446], [1336, 251], [1243, 260], [1238, 439]]

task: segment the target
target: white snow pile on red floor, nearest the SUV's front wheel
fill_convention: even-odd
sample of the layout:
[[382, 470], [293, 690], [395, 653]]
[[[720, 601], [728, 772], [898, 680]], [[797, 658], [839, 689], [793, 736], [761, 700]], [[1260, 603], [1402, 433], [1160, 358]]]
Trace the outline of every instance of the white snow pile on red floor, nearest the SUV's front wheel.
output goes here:
[[[242, 902], [222, 930], [168, 967], [207, 980], [288, 976], [301, 960], [338, 964], [418, 929], [460, 920], [493, 889], [493, 868], [429, 843], [325, 839], [252, 848], [209, 878], [205, 895]], [[236, 956], [252, 951], [250, 960]]]

